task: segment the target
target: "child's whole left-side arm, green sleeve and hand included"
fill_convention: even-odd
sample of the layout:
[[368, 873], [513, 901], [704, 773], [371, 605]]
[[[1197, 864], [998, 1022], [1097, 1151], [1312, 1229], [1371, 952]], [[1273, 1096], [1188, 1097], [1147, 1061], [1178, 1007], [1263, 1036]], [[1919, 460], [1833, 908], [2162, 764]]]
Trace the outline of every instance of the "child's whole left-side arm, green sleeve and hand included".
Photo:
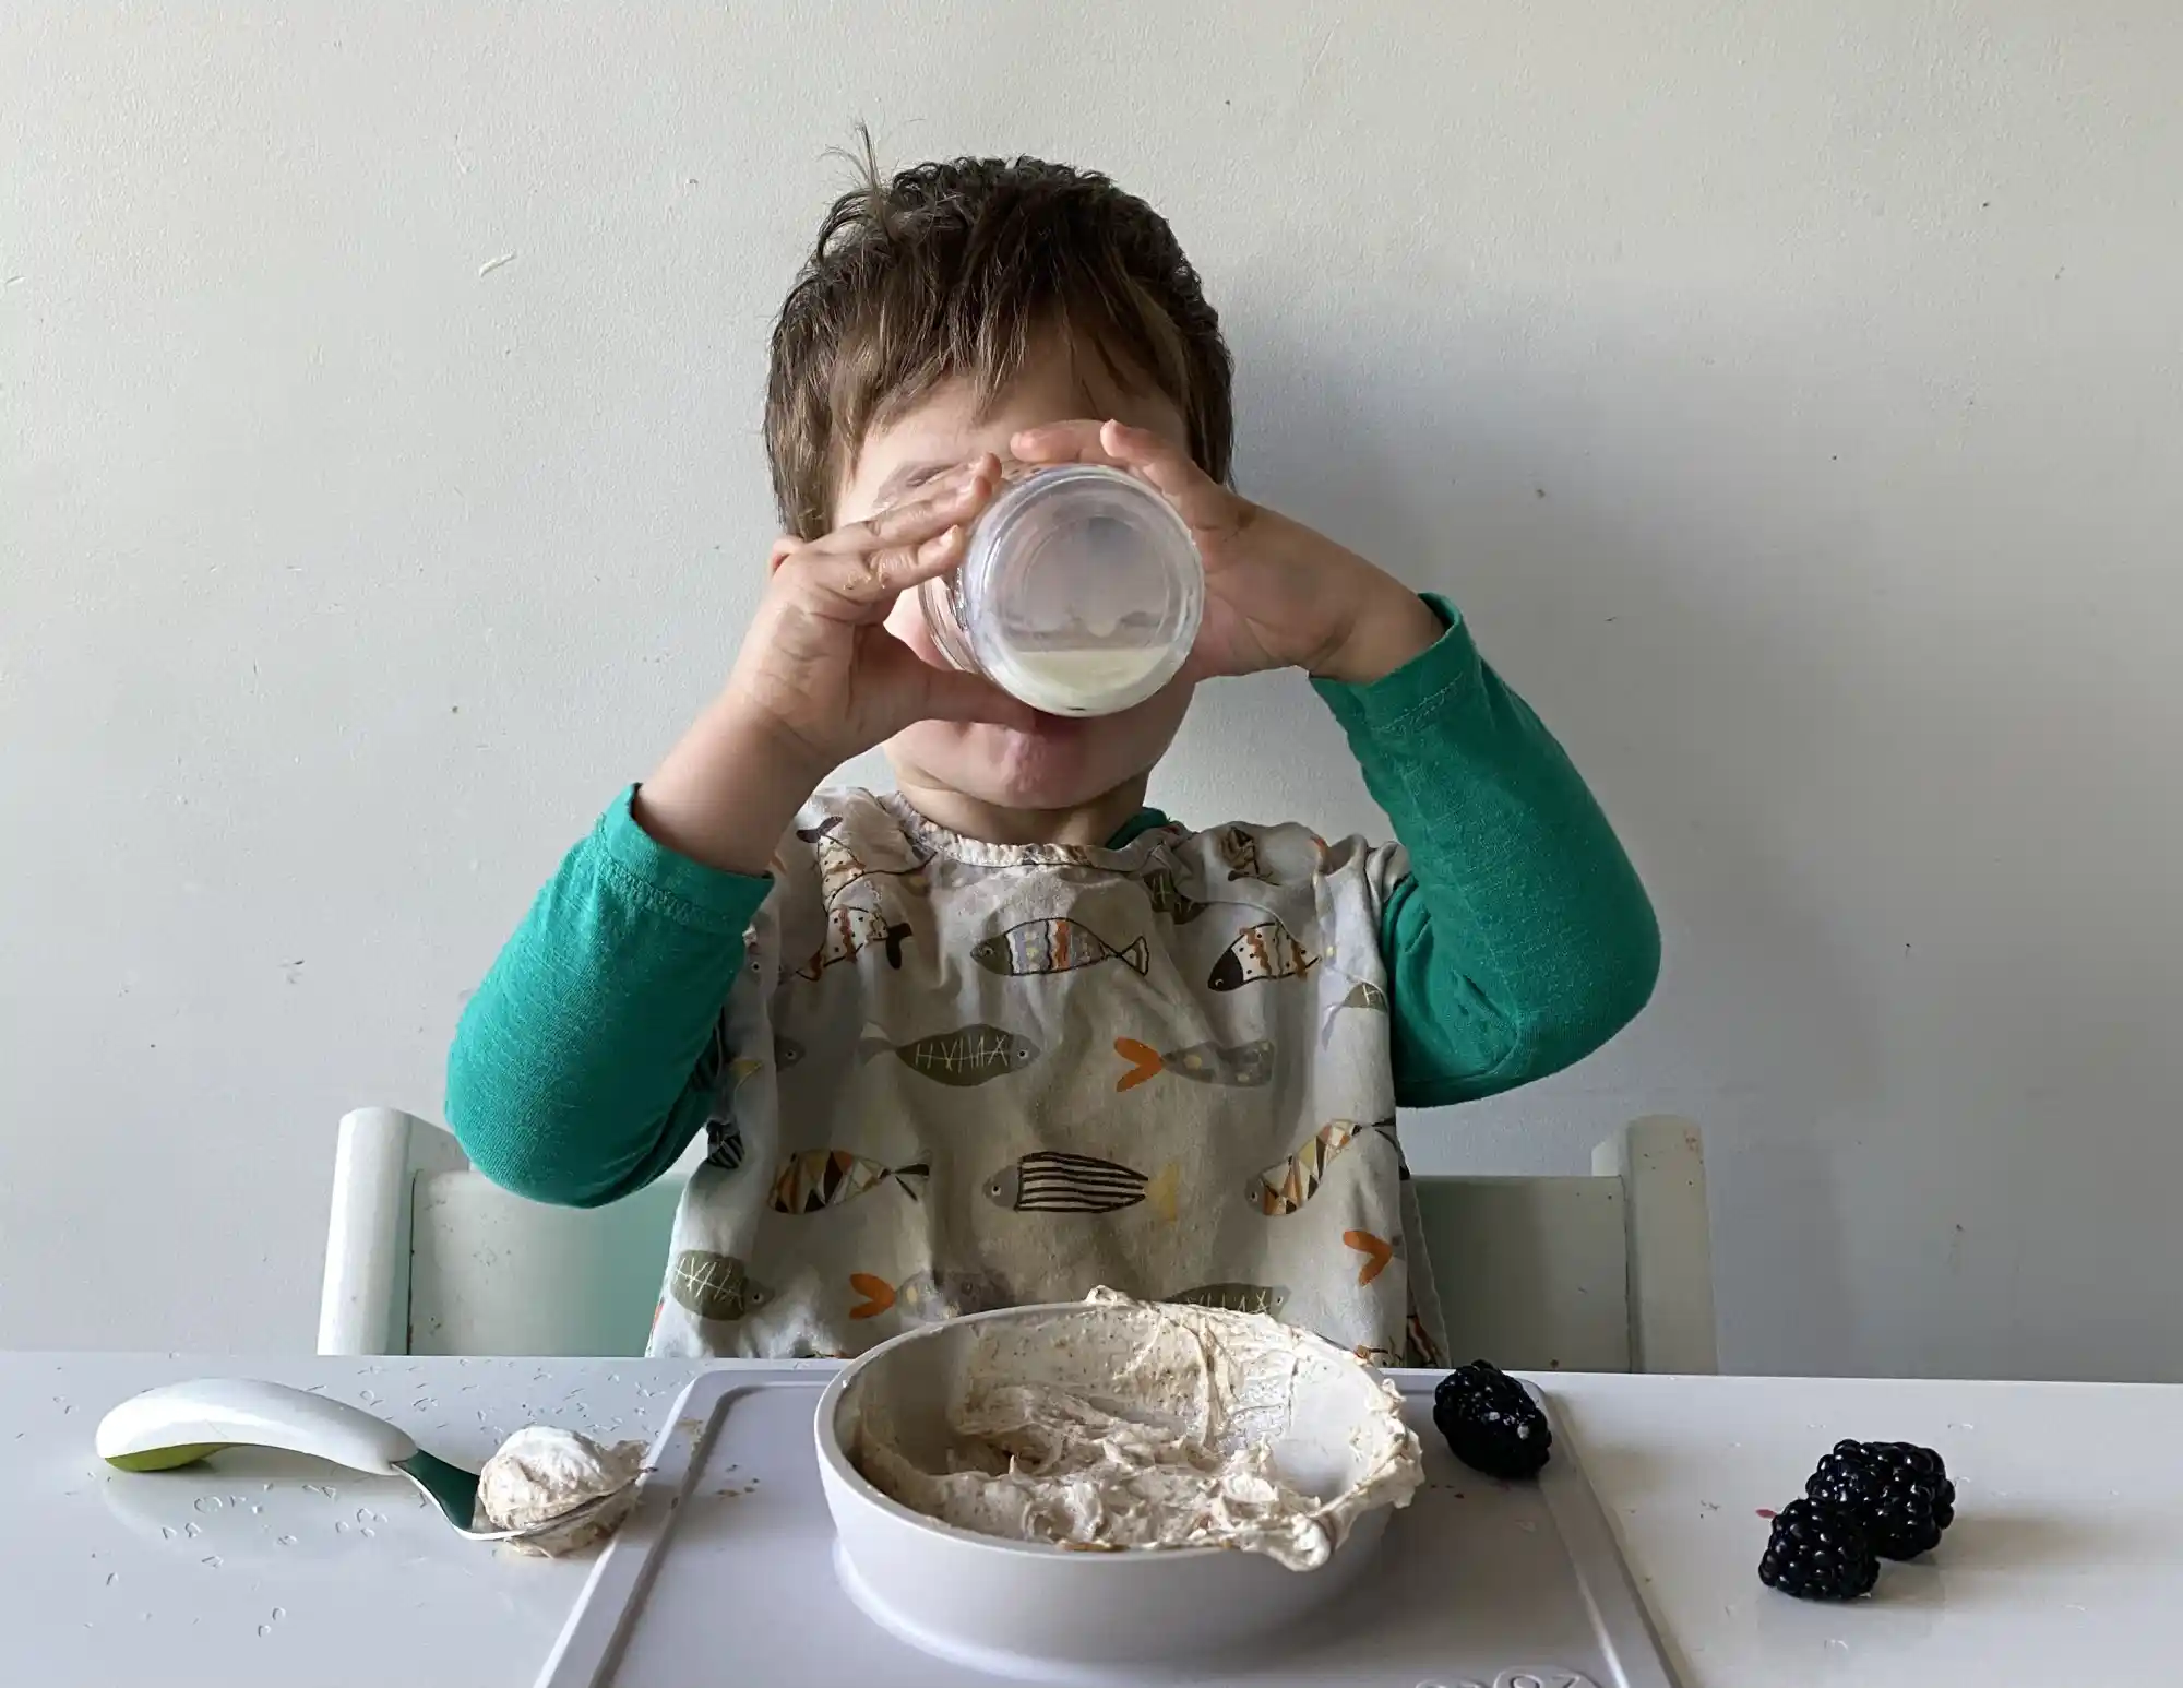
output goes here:
[[795, 810], [910, 721], [1024, 718], [882, 627], [906, 587], [961, 561], [998, 480], [987, 456], [869, 522], [775, 546], [720, 699], [568, 854], [463, 1013], [448, 1122], [496, 1184], [596, 1205], [672, 1166], [705, 1122], [712, 1029]]

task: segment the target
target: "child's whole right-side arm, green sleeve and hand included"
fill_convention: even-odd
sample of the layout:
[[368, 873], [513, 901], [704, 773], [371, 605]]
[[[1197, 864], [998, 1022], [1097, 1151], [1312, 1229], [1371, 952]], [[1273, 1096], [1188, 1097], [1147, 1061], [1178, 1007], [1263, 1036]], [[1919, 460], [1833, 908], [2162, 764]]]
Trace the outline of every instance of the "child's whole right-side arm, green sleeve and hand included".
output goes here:
[[1456, 1103], [1539, 1079], [1644, 1007], [1659, 928], [1561, 747], [1463, 622], [1323, 533], [1118, 421], [1017, 435], [1033, 463], [1111, 463], [1157, 487], [1205, 557], [1190, 675], [1305, 668], [1410, 854], [1382, 926], [1395, 1094]]

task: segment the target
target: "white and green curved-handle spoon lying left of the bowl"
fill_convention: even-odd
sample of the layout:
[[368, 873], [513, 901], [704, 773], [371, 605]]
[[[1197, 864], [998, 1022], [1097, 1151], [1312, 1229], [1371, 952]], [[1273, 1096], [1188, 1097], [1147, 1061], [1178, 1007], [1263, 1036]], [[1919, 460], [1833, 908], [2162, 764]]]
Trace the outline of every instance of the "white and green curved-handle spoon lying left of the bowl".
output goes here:
[[[406, 1476], [472, 1542], [565, 1535], [622, 1500], [629, 1483], [517, 1531], [474, 1529], [478, 1474], [419, 1448], [386, 1419], [284, 1382], [196, 1378], [131, 1395], [98, 1422], [98, 1457], [122, 1472], [170, 1472], [223, 1448], [284, 1448], [351, 1472]], [[633, 1483], [633, 1478], [631, 1478]]]

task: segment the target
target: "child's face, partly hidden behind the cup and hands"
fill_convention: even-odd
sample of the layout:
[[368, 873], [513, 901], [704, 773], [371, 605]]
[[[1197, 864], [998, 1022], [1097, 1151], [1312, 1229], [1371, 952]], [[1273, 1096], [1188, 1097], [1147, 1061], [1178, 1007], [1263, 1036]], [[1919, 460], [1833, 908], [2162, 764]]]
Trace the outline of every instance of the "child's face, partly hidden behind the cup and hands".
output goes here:
[[[1072, 360], [1050, 341], [985, 415], [967, 382], [947, 382], [864, 435], [856, 469], [834, 500], [834, 520], [858, 522], [895, 502], [921, 469], [945, 469], [982, 452], [1006, 465], [1019, 430], [1083, 417], [1113, 417], [1188, 443], [1183, 417], [1166, 397], [1118, 384], [1096, 358]], [[902, 594], [886, 627], [919, 657], [945, 666], [915, 592]], [[919, 721], [886, 742], [886, 760], [904, 784], [943, 786], [980, 804], [1076, 808], [1150, 771], [1181, 727], [1190, 692], [1177, 679], [1122, 714], [1041, 714], [1026, 732]]]

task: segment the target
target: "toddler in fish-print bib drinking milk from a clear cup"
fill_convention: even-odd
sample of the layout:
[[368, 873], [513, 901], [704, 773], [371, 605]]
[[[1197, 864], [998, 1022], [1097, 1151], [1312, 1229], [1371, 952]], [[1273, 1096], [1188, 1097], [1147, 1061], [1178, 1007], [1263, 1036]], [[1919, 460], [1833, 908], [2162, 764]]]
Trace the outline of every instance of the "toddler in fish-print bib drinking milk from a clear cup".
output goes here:
[[[1229, 480], [1229, 352], [1168, 225], [1035, 159], [871, 175], [773, 332], [786, 535], [720, 694], [561, 863], [448, 1114], [539, 1201], [694, 1138], [653, 1352], [854, 1354], [1096, 1284], [1441, 1365], [1395, 1109], [1583, 1057], [1650, 904], [1463, 618]], [[917, 583], [1004, 469], [1140, 476], [1205, 559], [1183, 673], [1057, 718], [945, 666]], [[1397, 843], [1192, 828], [1198, 683], [1301, 668]], [[884, 747], [895, 790], [821, 790]]]

